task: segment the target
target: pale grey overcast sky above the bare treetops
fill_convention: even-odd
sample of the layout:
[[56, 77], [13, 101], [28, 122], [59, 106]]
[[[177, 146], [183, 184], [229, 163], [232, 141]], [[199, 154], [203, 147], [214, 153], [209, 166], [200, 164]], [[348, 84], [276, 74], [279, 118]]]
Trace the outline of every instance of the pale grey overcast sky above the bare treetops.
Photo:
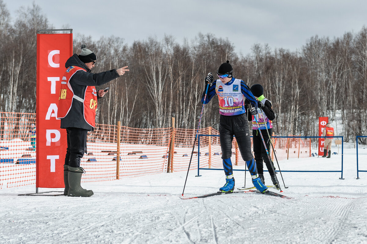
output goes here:
[[[14, 20], [31, 0], [4, 0]], [[174, 36], [182, 44], [199, 32], [228, 37], [236, 52], [253, 44], [295, 51], [308, 38], [357, 33], [367, 23], [366, 0], [34, 0], [55, 29], [94, 40], [112, 35], [129, 45], [149, 36]]]

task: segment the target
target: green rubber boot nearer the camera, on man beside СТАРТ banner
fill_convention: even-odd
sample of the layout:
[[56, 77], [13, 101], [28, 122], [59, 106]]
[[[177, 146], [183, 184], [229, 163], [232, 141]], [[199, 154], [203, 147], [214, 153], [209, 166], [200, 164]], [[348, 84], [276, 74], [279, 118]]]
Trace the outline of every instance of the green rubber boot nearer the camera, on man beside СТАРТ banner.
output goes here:
[[81, 188], [80, 186], [80, 180], [81, 180], [81, 174], [83, 174], [84, 170], [83, 168], [74, 168], [74, 167], [68, 167], [69, 173], [68, 173], [68, 180], [69, 180], [69, 192], [68, 196], [81, 196], [81, 197], [90, 197], [94, 193], [92, 190], [86, 190]]

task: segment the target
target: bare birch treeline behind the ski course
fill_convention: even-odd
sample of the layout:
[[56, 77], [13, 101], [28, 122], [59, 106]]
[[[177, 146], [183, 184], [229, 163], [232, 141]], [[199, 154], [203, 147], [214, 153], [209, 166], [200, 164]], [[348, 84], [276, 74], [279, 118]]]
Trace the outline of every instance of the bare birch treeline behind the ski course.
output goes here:
[[[0, 110], [35, 112], [36, 30], [55, 28], [35, 4], [20, 9], [11, 21], [0, 0], [0, 14]], [[247, 54], [236, 53], [230, 39], [210, 33], [198, 33], [183, 44], [165, 36], [161, 40], [147, 37], [132, 45], [115, 36], [96, 40], [74, 35], [74, 52], [79, 53], [81, 43], [97, 54], [94, 73], [124, 65], [130, 69], [105, 85], [111, 89], [99, 103], [98, 123], [121, 121], [123, 126], [162, 128], [170, 127], [175, 117], [176, 127], [195, 128], [204, 78], [228, 59], [235, 78], [249, 86], [264, 86], [277, 114], [277, 135], [315, 136], [317, 117], [333, 121], [338, 110], [346, 141], [366, 135], [366, 27], [333, 39], [310, 37], [297, 51], [254, 44]], [[205, 107], [201, 125], [217, 129], [218, 122], [217, 99], [213, 99]]]

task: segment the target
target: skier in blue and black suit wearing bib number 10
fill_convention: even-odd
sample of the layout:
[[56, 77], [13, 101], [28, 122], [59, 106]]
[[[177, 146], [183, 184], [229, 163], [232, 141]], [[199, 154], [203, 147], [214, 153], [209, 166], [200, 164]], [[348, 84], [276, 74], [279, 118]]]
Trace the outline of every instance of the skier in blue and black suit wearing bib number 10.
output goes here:
[[[257, 114], [257, 100], [252, 95], [250, 88], [243, 80], [232, 77], [233, 69], [227, 60], [219, 66], [218, 80], [213, 81], [213, 76], [208, 75], [205, 79], [205, 89], [201, 98], [201, 103], [207, 104], [218, 95], [219, 99], [219, 138], [222, 149], [223, 169], [226, 175], [226, 183], [219, 188], [221, 192], [233, 192], [235, 189], [235, 178], [233, 177], [233, 167], [230, 157], [232, 156], [233, 136], [236, 137], [237, 144], [242, 156], [250, 171], [252, 183], [260, 192], [265, 192], [268, 188], [262, 184], [258, 173], [254, 157], [251, 151], [250, 131], [248, 129], [247, 115], [244, 108], [244, 100], [247, 98], [252, 108], [252, 115]], [[209, 84], [208, 94], [204, 101], [206, 86]]]

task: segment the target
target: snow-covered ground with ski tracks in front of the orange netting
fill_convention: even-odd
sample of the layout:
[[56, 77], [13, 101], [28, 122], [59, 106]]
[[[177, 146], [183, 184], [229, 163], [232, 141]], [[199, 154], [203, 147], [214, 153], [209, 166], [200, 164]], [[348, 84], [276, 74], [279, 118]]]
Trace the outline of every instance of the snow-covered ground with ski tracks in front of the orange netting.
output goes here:
[[[359, 169], [367, 170], [366, 147], [359, 154]], [[341, 170], [341, 155], [279, 164], [281, 170]], [[189, 172], [184, 196], [224, 185], [223, 171], [196, 174]], [[341, 173], [282, 175], [289, 186], [278, 173], [282, 194], [292, 199], [240, 193], [182, 200], [186, 171], [83, 183], [94, 191], [86, 198], [18, 196], [35, 192], [35, 185], [5, 188], [0, 243], [367, 243], [367, 172], [356, 180], [353, 144], [344, 147], [345, 180]], [[244, 172], [234, 176], [236, 187], [243, 186]], [[271, 183], [268, 173], [265, 181]]]

